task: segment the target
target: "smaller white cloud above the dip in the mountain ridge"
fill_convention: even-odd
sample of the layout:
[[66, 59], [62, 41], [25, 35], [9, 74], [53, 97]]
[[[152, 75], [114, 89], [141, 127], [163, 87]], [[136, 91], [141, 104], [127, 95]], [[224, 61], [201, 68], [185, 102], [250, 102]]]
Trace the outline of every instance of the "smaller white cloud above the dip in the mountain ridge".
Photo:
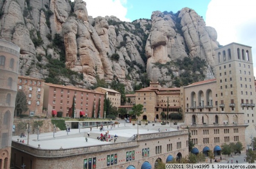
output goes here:
[[126, 0], [84, 0], [88, 15], [93, 18], [101, 16], [115, 16], [122, 21], [131, 22], [126, 18], [127, 8], [125, 7]]

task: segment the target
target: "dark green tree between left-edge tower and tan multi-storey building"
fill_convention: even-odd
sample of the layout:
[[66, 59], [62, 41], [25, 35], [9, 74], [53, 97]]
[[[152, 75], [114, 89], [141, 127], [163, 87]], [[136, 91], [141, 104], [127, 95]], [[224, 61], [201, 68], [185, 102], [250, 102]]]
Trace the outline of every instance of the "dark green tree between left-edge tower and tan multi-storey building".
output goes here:
[[15, 99], [15, 111], [17, 116], [29, 110], [26, 94], [23, 91], [18, 91]]

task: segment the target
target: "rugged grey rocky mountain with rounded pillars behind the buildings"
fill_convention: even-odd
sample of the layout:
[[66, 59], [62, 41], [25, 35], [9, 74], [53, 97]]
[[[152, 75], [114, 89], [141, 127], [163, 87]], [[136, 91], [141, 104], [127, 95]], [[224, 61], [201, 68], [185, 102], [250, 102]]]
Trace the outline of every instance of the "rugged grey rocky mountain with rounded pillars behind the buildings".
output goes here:
[[[85, 88], [117, 82], [127, 91], [149, 81], [175, 87], [188, 71], [177, 61], [214, 66], [217, 33], [190, 8], [153, 11], [151, 20], [131, 23], [92, 18], [83, 0], [2, 0], [0, 9], [0, 38], [20, 46], [20, 74], [46, 82]], [[194, 70], [204, 72], [205, 66]]]

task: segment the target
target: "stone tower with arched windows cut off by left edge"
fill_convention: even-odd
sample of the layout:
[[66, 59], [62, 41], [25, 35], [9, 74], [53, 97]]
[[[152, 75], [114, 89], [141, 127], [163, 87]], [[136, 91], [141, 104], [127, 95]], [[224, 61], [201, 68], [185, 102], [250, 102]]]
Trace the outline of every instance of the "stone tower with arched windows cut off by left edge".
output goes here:
[[9, 169], [20, 48], [0, 40], [0, 169]]

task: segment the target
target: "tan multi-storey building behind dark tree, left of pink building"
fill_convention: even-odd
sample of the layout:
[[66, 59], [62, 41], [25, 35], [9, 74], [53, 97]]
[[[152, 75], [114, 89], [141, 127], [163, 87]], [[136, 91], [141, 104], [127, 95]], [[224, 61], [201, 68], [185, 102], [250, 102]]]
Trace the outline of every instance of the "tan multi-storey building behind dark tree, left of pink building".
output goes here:
[[[29, 76], [18, 76], [17, 90], [23, 91], [28, 101], [29, 110], [22, 114], [39, 117], [46, 116], [46, 113], [43, 113], [44, 80]], [[15, 112], [15, 116], [18, 115]]]

